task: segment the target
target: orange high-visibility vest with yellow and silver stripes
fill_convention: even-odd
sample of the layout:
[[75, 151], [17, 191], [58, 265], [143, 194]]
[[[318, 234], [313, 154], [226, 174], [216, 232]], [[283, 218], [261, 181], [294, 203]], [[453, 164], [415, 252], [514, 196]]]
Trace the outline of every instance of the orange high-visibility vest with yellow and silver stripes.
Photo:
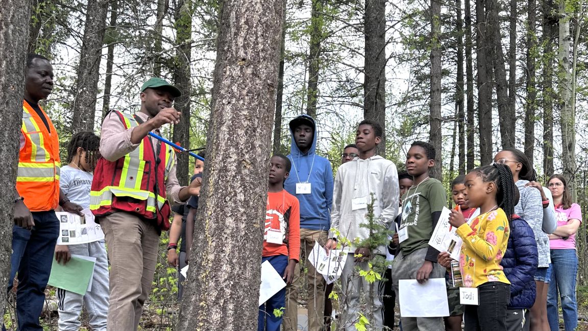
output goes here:
[[53, 210], [59, 204], [59, 137], [42, 108], [41, 112], [51, 133], [31, 105], [26, 100], [23, 102], [24, 146], [18, 155], [16, 191], [25, 198], [25, 205], [31, 211]]

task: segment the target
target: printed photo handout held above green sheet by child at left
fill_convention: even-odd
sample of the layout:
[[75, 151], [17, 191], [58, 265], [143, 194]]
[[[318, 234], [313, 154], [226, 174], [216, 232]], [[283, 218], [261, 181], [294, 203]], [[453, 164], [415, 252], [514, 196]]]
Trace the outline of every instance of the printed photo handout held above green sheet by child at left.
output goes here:
[[94, 215], [89, 209], [82, 210], [83, 216], [63, 211], [56, 211], [59, 220], [58, 245], [73, 245], [92, 243], [104, 240], [104, 233], [99, 224], [94, 221]]

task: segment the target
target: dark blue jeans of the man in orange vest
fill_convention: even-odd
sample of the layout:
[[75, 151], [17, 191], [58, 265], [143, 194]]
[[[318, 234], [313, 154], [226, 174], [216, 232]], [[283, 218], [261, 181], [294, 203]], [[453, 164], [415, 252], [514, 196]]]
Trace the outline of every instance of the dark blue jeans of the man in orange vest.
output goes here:
[[54, 211], [35, 211], [32, 230], [12, 227], [12, 256], [8, 291], [18, 272], [16, 317], [18, 330], [43, 330], [39, 317], [45, 302], [45, 287], [51, 274], [59, 220]]

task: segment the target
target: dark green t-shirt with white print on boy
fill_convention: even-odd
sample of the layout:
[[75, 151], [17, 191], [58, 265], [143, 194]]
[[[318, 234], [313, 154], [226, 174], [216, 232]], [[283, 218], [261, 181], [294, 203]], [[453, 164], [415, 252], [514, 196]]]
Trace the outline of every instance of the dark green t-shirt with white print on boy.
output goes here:
[[422, 181], [402, 196], [400, 229], [406, 226], [408, 231], [408, 238], [400, 243], [404, 255], [429, 246], [434, 229], [431, 214], [442, 211], [446, 201], [445, 188], [435, 178]]

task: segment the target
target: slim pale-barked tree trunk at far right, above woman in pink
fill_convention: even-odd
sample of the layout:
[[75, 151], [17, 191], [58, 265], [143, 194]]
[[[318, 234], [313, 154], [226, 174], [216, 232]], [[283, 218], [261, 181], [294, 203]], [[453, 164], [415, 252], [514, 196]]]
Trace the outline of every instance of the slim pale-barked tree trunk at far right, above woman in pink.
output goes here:
[[566, 10], [566, 0], [559, 0], [559, 90], [560, 126], [562, 130], [562, 174], [567, 180], [567, 188], [575, 201], [576, 186], [576, 111], [573, 109], [572, 72], [570, 71], [570, 13]]

